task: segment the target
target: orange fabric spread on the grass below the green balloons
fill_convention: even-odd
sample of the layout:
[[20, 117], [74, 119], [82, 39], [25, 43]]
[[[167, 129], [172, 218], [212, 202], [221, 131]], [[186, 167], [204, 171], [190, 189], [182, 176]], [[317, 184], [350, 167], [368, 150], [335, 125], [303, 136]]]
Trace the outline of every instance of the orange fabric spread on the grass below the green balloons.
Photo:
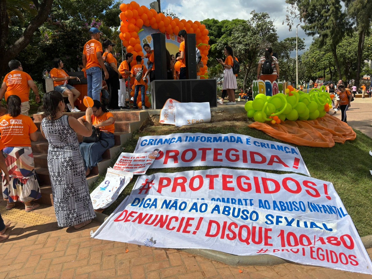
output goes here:
[[254, 122], [248, 127], [259, 129], [281, 141], [314, 147], [333, 147], [334, 142], [344, 143], [356, 138], [349, 125], [328, 114], [316, 120], [286, 120], [273, 125]]

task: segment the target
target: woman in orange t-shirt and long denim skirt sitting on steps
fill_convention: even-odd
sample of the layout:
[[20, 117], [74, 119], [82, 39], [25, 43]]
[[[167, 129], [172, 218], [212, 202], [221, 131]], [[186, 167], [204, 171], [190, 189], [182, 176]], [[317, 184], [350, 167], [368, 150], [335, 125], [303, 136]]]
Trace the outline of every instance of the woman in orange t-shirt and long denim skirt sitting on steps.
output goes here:
[[[98, 100], [93, 100], [93, 102], [93, 114], [91, 116], [92, 125], [99, 128], [101, 134], [99, 136], [99, 141], [80, 143], [80, 152], [85, 161], [86, 176], [90, 174], [93, 167], [97, 166], [97, 164], [103, 160], [103, 153], [115, 144], [113, 134], [115, 132], [115, 119], [113, 114], [102, 106]], [[86, 122], [86, 116], [81, 116], [77, 120], [84, 125], [84, 122]]]

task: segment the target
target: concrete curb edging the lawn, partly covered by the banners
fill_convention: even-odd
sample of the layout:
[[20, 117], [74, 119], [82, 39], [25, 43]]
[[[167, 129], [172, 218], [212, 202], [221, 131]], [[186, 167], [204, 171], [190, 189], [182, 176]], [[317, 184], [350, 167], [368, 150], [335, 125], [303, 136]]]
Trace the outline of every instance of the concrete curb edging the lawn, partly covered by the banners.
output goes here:
[[[94, 221], [102, 224], [109, 215], [96, 212], [97, 217]], [[372, 235], [361, 237], [362, 243], [366, 249], [372, 247]], [[202, 256], [209, 260], [215, 260], [230, 266], [273, 266], [276, 264], [289, 263], [279, 257], [272, 255], [257, 255], [257, 256], [236, 256], [221, 251], [208, 250], [208, 249], [179, 249], [187, 253]]]

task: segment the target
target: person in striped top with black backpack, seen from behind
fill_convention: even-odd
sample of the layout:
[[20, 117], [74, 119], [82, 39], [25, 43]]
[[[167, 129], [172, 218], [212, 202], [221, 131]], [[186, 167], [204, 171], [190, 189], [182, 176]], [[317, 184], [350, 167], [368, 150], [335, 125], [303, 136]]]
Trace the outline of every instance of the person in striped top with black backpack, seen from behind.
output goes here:
[[273, 83], [279, 78], [279, 62], [273, 56], [273, 48], [266, 48], [265, 55], [260, 58], [257, 67], [257, 80], [270, 80]]

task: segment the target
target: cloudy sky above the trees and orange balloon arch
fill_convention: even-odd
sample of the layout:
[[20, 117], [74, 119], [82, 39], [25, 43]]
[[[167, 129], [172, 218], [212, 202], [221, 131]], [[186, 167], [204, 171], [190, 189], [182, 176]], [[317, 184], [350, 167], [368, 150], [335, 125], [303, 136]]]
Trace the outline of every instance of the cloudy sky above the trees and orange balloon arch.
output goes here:
[[[130, 1], [124, 1], [129, 3]], [[141, 6], [150, 7], [150, 3], [154, 0], [137, 0]], [[123, 2], [122, 2], [123, 3]], [[296, 36], [296, 28], [288, 31], [287, 25], [282, 25], [285, 19], [288, 4], [285, 0], [161, 0], [161, 10], [170, 9], [171, 12], [176, 13], [180, 19], [198, 20], [201, 21], [207, 18], [214, 18], [217, 20], [224, 19], [248, 19], [250, 12], [266, 12], [270, 15], [270, 19], [274, 20], [277, 28], [276, 33], [279, 36], [279, 41], [288, 37]], [[299, 21], [294, 22], [296, 26]], [[305, 39], [306, 49], [310, 46], [312, 38], [305, 35], [302, 31], [301, 25], [298, 26], [298, 37]], [[299, 52], [299, 54], [301, 54]]]

